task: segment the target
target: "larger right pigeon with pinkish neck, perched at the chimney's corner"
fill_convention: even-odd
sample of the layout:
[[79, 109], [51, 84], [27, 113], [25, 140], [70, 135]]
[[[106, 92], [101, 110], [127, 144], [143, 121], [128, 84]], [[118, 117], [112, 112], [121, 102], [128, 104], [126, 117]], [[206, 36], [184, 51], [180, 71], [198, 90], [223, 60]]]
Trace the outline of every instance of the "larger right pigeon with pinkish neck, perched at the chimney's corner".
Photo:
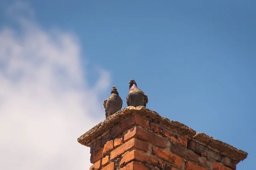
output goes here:
[[148, 96], [137, 87], [136, 82], [131, 79], [129, 82], [129, 93], [126, 97], [126, 102], [128, 106], [145, 106], [148, 103]]

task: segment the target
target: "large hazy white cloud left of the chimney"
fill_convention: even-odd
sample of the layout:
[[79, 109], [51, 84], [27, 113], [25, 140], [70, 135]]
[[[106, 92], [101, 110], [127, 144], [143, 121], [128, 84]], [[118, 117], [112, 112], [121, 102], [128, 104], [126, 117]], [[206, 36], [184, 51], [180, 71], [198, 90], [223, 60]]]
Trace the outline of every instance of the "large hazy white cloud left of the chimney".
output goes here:
[[73, 34], [16, 21], [18, 29], [0, 28], [0, 169], [89, 169], [90, 149], [77, 138], [105, 119], [98, 96], [110, 75], [99, 69], [89, 88]]

